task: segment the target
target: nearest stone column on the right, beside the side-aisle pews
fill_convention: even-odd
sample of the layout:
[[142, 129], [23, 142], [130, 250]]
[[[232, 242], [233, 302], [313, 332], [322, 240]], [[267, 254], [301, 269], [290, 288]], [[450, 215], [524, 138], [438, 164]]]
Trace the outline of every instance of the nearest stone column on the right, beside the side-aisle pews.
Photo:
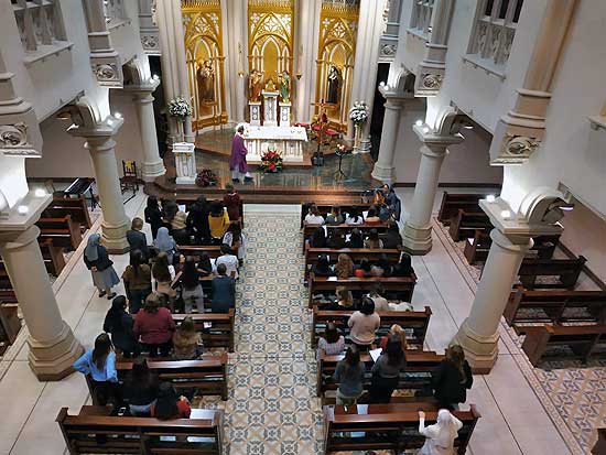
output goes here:
[[530, 248], [528, 236], [490, 232], [493, 245], [481, 272], [469, 316], [461, 325], [453, 343], [459, 344], [475, 372], [490, 371], [498, 354], [498, 326], [511, 293], [520, 264]]

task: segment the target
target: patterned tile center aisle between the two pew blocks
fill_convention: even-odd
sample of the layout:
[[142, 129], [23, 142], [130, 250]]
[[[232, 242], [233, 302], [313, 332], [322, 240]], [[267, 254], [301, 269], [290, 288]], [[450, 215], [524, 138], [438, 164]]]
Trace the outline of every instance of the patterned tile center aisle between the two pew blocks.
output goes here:
[[248, 245], [237, 284], [225, 409], [231, 455], [321, 453], [300, 210], [294, 205], [246, 206]]

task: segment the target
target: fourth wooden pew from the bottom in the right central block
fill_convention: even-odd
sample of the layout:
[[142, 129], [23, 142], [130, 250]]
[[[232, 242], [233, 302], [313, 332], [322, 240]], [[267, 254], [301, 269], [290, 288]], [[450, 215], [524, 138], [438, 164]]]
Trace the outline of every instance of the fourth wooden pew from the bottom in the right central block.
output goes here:
[[376, 283], [380, 283], [383, 289], [383, 296], [388, 300], [399, 300], [402, 302], [412, 302], [412, 293], [416, 284], [416, 275], [412, 277], [389, 277], [389, 278], [344, 278], [336, 277], [315, 277], [310, 273], [310, 302], [309, 307], [313, 306], [314, 294], [331, 292], [336, 295], [337, 288], [345, 288], [354, 293], [368, 293]]

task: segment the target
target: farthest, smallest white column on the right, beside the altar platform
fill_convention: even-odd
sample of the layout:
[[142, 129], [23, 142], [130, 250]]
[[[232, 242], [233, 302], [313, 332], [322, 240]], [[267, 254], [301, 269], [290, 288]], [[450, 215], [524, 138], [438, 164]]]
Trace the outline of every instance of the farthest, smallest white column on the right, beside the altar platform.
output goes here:
[[381, 147], [379, 148], [379, 158], [375, 163], [371, 175], [372, 178], [391, 184], [396, 177], [393, 156], [396, 155], [400, 118], [405, 98], [392, 95], [387, 90], [383, 91], [383, 97], [386, 98], [386, 110], [381, 131]]

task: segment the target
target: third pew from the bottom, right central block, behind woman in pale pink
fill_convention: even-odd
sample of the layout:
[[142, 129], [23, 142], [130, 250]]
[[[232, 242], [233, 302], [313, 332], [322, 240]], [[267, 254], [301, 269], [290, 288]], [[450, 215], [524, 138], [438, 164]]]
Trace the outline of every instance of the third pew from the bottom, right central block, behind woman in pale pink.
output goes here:
[[[318, 310], [314, 306], [312, 316], [312, 346], [317, 345], [317, 338], [324, 332], [326, 324], [329, 322], [335, 323], [336, 327], [342, 334], [348, 336], [349, 327], [347, 321], [354, 311], [325, 311]], [[381, 326], [377, 329], [377, 337], [387, 335], [389, 328], [393, 324], [400, 325], [407, 329], [407, 340], [409, 345], [416, 346], [419, 349], [423, 348], [425, 340], [425, 334], [428, 333], [428, 326], [430, 325], [430, 317], [432, 315], [431, 308], [425, 306], [424, 311], [413, 312], [378, 312], [381, 317]]]

